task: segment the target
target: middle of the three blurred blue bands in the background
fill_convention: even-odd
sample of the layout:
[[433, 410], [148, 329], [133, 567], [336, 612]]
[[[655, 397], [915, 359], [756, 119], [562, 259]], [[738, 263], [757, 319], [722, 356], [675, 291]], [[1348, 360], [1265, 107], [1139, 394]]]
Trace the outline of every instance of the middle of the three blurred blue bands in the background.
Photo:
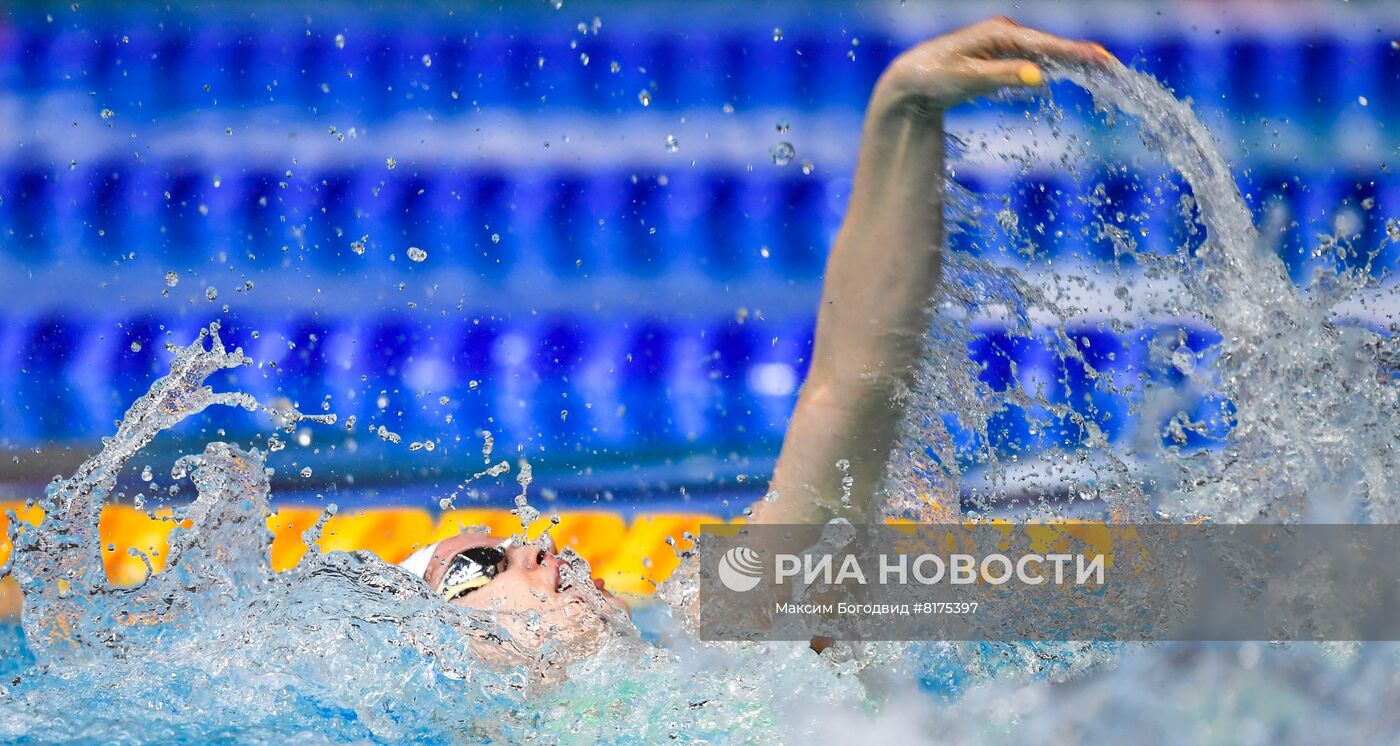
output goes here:
[[[962, 171], [959, 181], [980, 195], [983, 220], [952, 232], [956, 251], [1011, 262], [1133, 263], [1110, 234], [1152, 255], [1203, 235], [1183, 217], [1186, 188], [1165, 176], [1100, 172], [1077, 182], [1064, 174]], [[1400, 245], [1383, 242], [1386, 216], [1400, 206], [1400, 179], [1257, 171], [1242, 182], [1261, 225], [1282, 220], [1270, 241], [1295, 280], [1329, 260], [1315, 256], [1316, 237], [1338, 225], [1359, 237], [1343, 263], [1369, 262], [1378, 274], [1400, 269]], [[0, 168], [0, 258], [42, 267], [108, 265], [136, 252], [178, 269], [227, 255], [246, 269], [272, 269], [293, 253], [302, 266], [340, 273], [365, 266], [356, 245], [368, 237], [363, 246], [371, 259], [399, 255], [395, 272], [412, 272], [416, 265], [402, 259], [417, 246], [434, 269], [489, 279], [517, 269], [568, 280], [668, 272], [725, 281], [813, 279], [848, 185], [841, 176], [773, 169], [658, 176], [381, 167], [286, 178], [237, 164], [17, 164]], [[1005, 204], [1021, 235], [1000, 227]]]

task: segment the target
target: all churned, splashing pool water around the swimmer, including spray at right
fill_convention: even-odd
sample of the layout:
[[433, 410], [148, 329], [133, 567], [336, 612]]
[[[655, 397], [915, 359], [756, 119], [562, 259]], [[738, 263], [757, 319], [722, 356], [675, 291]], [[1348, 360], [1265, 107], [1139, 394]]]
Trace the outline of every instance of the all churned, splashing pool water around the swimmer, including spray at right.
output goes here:
[[[892, 509], [931, 516], [923, 512], [930, 501], [958, 498], [994, 509], [1022, 465], [990, 444], [1000, 413], [1018, 407], [1039, 418], [1037, 428], [1077, 428], [1078, 448], [1051, 448], [1046, 469], [1064, 493], [1102, 498], [1119, 518], [1394, 521], [1400, 508], [1389, 486], [1400, 420], [1386, 361], [1396, 360], [1396, 343], [1340, 323], [1334, 312], [1375, 280], [1330, 273], [1299, 294], [1187, 105], [1123, 69], [1060, 74], [1133, 118], [1148, 148], [1190, 188], [1187, 204], [1204, 231], [1197, 245], [1151, 255], [1131, 232], [1113, 238], [1145, 276], [1183, 288], [1152, 301], [1148, 316], [1189, 315], [1219, 333], [1208, 354], [1183, 356], [1175, 337], [1154, 350], [1231, 403], [1228, 437], [1214, 449], [1182, 448], [1172, 427], [1197, 423], [1175, 418], [1163, 439], [1155, 414], [1179, 400], [1095, 368], [1098, 358], [1067, 330], [1084, 311], [1065, 291], [1072, 283], [951, 253], [892, 467]], [[988, 217], [995, 223], [969, 213], [972, 221]], [[1035, 245], [1030, 228], [998, 224], [1018, 244]], [[974, 321], [987, 316], [1026, 339], [1049, 328], [1056, 360], [1077, 365], [1099, 390], [1131, 399], [1145, 431], [1112, 438], [1072, 399], [990, 388], [966, 356]], [[1117, 314], [1103, 323], [1128, 333], [1142, 322]], [[178, 350], [171, 374], [132, 406], [102, 451], [49, 487], [43, 523], [14, 536], [8, 570], [25, 593], [25, 641], [0, 640], [18, 652], [0, 662], [0, 738], [652, 742], [846, 733], [1011, 742], [1121, 740], [1131, 731], [1148, 742], [1222, 732], [1308, 740], [1338, 729], [1365, 738], [1396, 717], [1378, 712], [1400, 696], [1390, 645], [924, 642], [836, 645], [816, 656], [799, 644], [706, 644], [690, 634], [689, 563], [648, 612], [650, 633], [664, 645], [641, 642], [616, 620], [588, 641], [518, 645], [521, 627], [442, 605], [371, 554], [311, 551], [294, 570], [273, 572], [263, 456], [221, 442], [176, 465], [199, 495], [175, 516], [189, 528], [172, 535], [167, 570], [136, 588], [109, 588], [97, 523], [118, 472], [160, 431], [209, 406], [256, 409], [248, 395], [204, 386], [216, 371], [245, 361], [224, 350], [217, 328]], [[279, 413], [281, 423], [305, 418]], [[1231, 697], [1212, 697], [1222, 687]]]

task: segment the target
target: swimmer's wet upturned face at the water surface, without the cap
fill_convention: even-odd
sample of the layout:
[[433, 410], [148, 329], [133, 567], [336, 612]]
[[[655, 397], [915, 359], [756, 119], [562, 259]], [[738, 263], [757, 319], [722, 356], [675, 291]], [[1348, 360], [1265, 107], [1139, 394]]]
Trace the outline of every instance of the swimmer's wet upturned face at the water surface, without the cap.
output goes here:
[[[428, 586], [437, 588], [447, 572], [447, 565], [462, 550], [476, 546], [498, 546], [500, 536], [489, 533], [468, 532], [444, 539], [428, 561], [424, 581]], [[601, 619], [605, 612], [622, 610], [630, 613], [626, 603], [603, 588], [603, 581], [598, 578], [574, 579], [568, 582], [568, 572], [564, 563], [554, 556], [554, 544], [517, 543], [505, 550], [503, 567], [486, 585], [463, 596], [452, 599], [452, 603], [468, 609], [484, 612], [505, 612], [512, 619], [525, 619], [539, 614], [539, 624], [528, 627], [549, 640], [571, 640], [589, 634], [603, 626]], [[584, 586], [587, 584], [587, 586]], [[602, 595], [606, 605], [598, 602]], [[519, 637], [519, 624], [507, 621], [503, 624]]]

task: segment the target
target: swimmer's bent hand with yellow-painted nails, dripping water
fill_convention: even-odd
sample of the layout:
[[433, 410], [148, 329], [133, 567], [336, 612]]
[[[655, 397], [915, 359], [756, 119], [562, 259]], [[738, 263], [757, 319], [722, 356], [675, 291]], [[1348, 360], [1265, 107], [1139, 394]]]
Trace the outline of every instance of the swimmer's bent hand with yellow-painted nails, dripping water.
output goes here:
[[1116, 60], [1092, 42], [1061, 39], [1007, 17], [988, 18], [900, 55], [881, 76], [871, 106], [942, 112], [1001, 88], [1037, 87], [1047, 62], [1102, 66]]

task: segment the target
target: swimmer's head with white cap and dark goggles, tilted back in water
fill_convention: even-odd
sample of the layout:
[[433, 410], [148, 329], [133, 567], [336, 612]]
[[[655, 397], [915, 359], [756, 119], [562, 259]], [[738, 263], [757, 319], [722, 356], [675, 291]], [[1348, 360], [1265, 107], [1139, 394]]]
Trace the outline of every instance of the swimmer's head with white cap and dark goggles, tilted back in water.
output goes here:
[[449, 603], [494, 613], [517, 648], [540, 649], [550, 641], [561, 647], [587, 644], [630, 614], [627, 605], [608, 592], [603, 581], [574, 577], [577, 572], [556, 556], [552, 540], [503, 546], [500, 536], [463, 532], [423, 547], [400, 567], [421, 577], [428, 588], [438, 589], [454, 558], [479, 547], [501, 547], [498, 553], [469, 554], [498, 558], [498, 564], [489, 568], [486, 582], [470, 584], [473, 588], [459, 592]]

